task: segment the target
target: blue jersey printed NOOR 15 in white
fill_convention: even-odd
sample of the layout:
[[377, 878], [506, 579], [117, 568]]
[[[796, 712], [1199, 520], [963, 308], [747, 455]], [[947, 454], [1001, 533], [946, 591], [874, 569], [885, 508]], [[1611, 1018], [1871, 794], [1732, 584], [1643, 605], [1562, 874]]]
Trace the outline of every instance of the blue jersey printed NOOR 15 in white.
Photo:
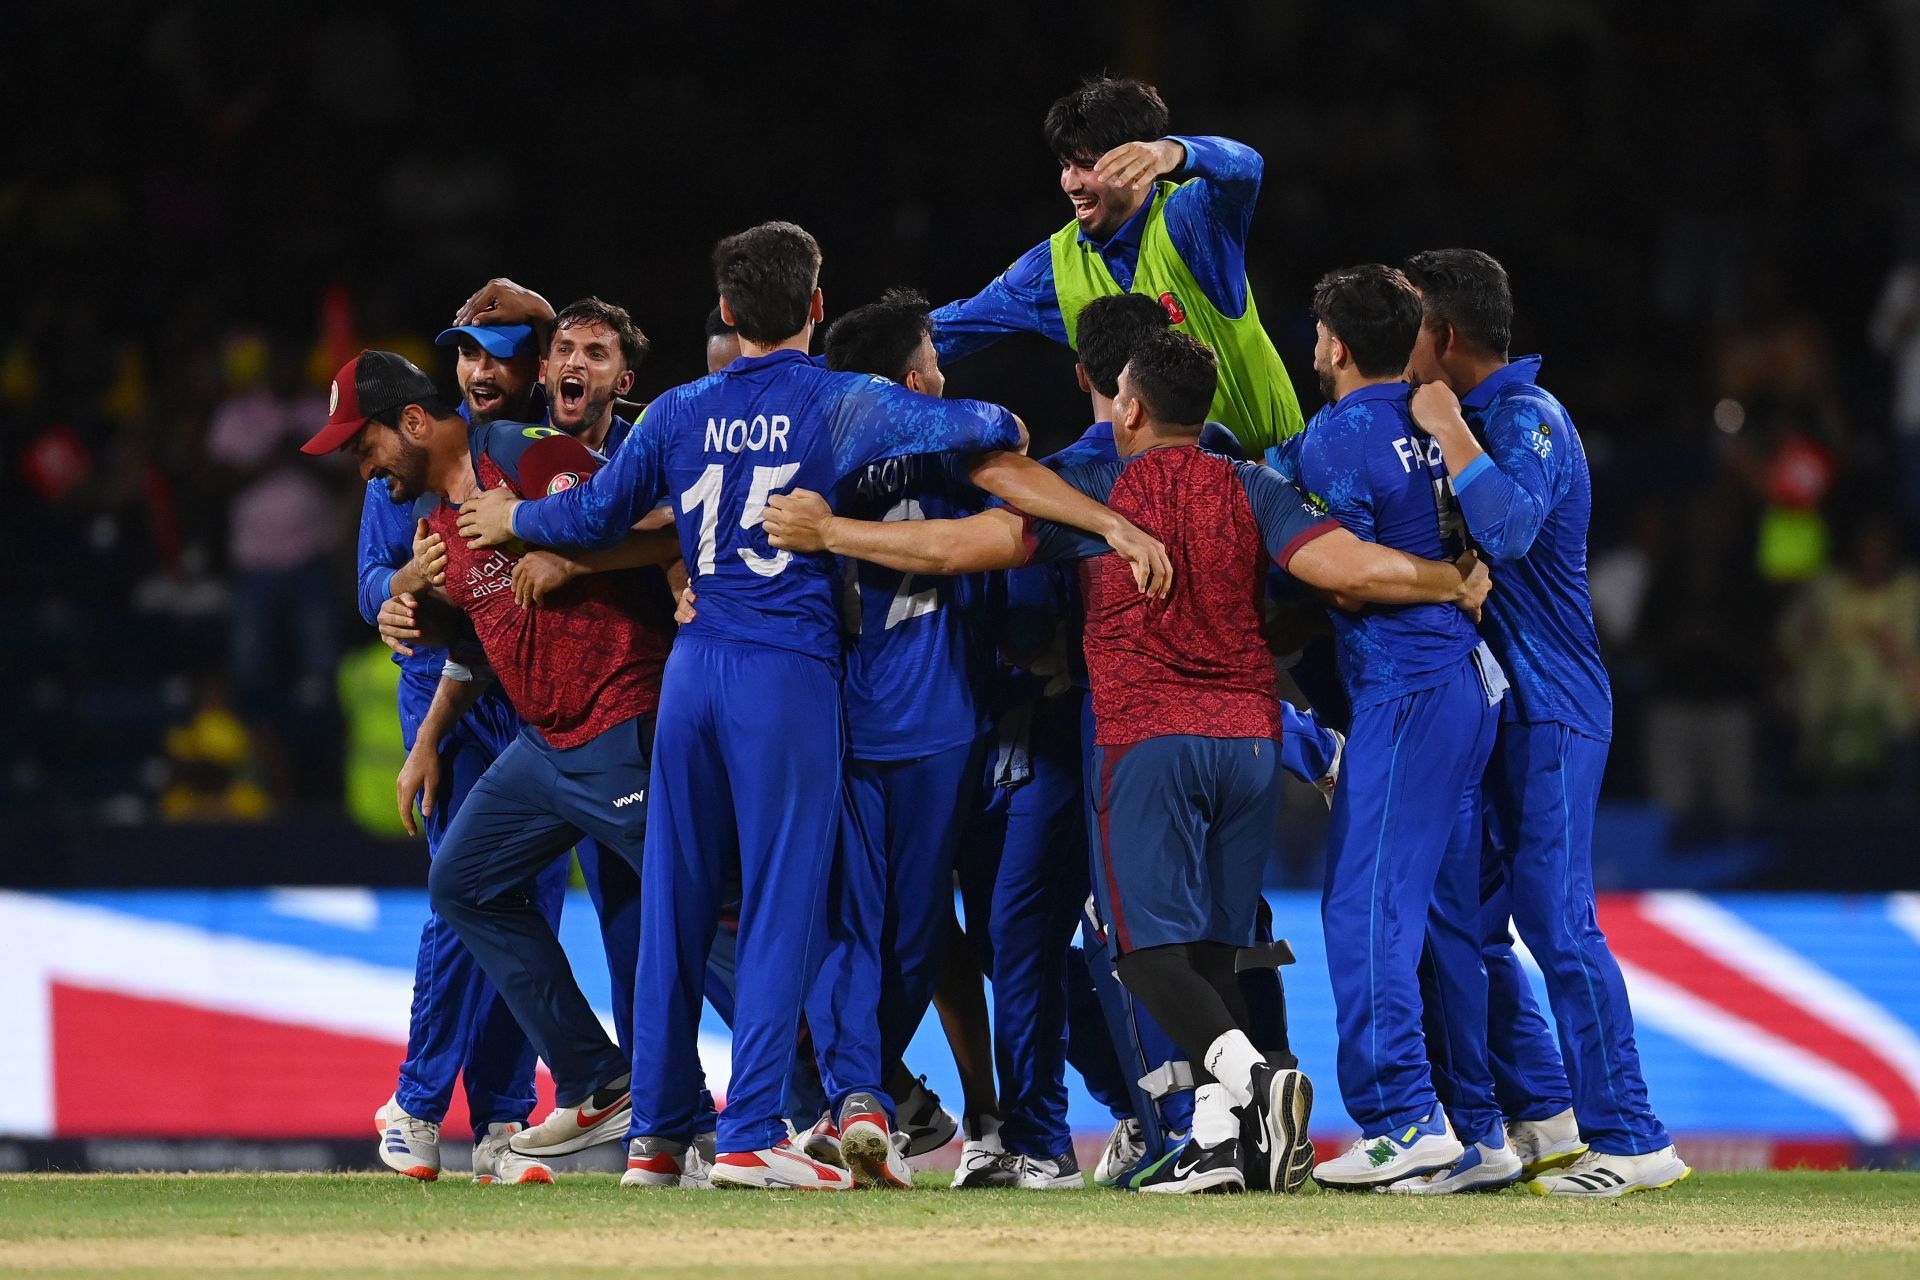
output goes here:
[[515, 533], [549, 547], [609, 547], [672, 497], [680, 553], [699, 593], [689, 637], [839, 660], [829, 555], [774, 551], [766, 499], [831, 493], [868, 462], [912, 453], [1014, 449], [1006, 409], [933, 399], [887, 378], [831, 372], [801, 351], [741, 357], [647, 405], [634, 434], [582, 486], [515, 510]]

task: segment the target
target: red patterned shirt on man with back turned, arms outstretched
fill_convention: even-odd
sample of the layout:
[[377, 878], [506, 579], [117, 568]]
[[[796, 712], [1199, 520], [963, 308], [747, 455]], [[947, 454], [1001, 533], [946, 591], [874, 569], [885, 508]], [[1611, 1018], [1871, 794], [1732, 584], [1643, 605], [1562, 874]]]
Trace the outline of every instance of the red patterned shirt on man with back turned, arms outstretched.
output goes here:
[[1286, 568], [1338, 522], [1313, 514], [1277, 472], [1194, 445], [1075, 462], [1060, 478], [1158, 537], [1173, 560], [1173, 591], [1158, 601], [1104, 541], [1027, 520], [1029, 560], [1081, 560], [1094, 743], [1279, 739], [1279, 683], [1260, 633], [1265, 566]]

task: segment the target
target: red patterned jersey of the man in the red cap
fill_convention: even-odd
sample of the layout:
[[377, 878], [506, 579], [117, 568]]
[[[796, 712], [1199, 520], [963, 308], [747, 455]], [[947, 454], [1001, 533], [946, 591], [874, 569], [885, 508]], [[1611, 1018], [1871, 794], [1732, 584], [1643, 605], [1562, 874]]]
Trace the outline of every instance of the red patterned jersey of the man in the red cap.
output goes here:
[[[561, 493], [603, 462], [566, 432], [524, 422], [470, 428], [468, 447], [480, 486], [516, 497]], [[513, 564], [526, 547], [468, 551], [455, 507], [426, 497], [417, 510], [447, 545], [447, 595], [472, 620], [520, 720], [549, 747], [580, 747], [659, 706], [674, 637], [672, 601], [659, 570], [591, 574], [540, 608], [520, 608], [513, 601]]]

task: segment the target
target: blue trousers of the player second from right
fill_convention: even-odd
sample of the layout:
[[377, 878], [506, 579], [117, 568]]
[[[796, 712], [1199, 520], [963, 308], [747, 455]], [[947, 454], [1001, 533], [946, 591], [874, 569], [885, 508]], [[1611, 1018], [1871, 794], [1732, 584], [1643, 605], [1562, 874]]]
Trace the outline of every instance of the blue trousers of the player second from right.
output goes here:
[[[1419, 963], [1436, 961], [1448, 1027], [1486, 1027], [1480, 963], [1480, 773], [1498, 708], [1473, 658], [1446, 683], [1354, 712], [1327, 831], [1321, 923], [1340, 1034], [1340, 1094], [1363, 1134], [1428, 1117], [1438, 1094]], [[1453, 1128], [1494, 1142], [1484, 1036], [1446, 1046]]]

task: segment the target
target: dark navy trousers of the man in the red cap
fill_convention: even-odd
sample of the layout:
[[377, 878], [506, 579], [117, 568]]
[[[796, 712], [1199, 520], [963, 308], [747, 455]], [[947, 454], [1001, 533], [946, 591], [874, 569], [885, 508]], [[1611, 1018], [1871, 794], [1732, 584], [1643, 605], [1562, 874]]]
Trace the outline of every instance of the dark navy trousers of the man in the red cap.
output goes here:
[[524, 729], [467, 794], [426, 877], [434, 910], [467, 942], [553, 1071], [563, 1107], [624, 1075], [628, 1061], [607, 1040], [528, 890], [584, 835], [637, 871], [651, 743], [651, 716], [624, 720], [568, 750]]

